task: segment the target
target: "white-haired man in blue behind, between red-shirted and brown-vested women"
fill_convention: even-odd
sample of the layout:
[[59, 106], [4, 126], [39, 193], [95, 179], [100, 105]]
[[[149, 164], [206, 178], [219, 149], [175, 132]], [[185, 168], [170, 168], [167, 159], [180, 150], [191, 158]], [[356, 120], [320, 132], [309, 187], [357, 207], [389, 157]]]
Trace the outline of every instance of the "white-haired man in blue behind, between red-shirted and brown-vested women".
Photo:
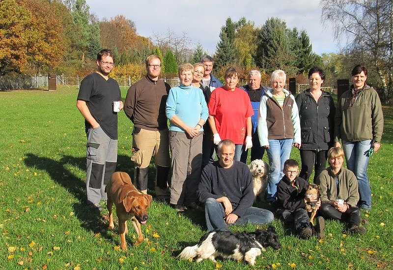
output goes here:
[[[251, 147], [251, 161], [255, 159], [262, 159], [265, 153], [265, 147], [261, 147], [258, 139], [258, 131], [256, 126], [258, 124], [258, 110], [259, 103], [265, 91], [268, 90], [266, 86], [261, 86], [261, 73], [257, 70], [252, 70], [249, 72], [249, 82], [248, 84], [241, 87], [247, 94], [249, 94], [251, 105], [253, 106], [254, 115], [251, 117], [251, 122], [253, 123], [253, 147]], [[246, 163], [248, 155], [248, 149], [242, 151], [240, 161]]]

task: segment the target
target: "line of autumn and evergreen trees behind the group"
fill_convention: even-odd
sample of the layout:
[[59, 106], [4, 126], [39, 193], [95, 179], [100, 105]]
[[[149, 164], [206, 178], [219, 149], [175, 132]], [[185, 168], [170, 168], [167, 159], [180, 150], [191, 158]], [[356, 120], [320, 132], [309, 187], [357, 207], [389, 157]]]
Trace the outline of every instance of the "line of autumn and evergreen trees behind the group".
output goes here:
[[[332, 22], [337, 40], [348, 43], [340, 53], [318, 55], [312, 51], [305, 30], [288, 28], [280, 18], [269, 18], [261, 26], [241, 18], [226, 19], [221, 27], [215, 60], [215, 73], [222, 78], [225, 69], [236, 65], [246, 77], [258, 69], [268, 80], [273, 70], [282, 69], [299, 83], [308, 83], [313, 66], [325, 69], [326, 86], [337, 78], [349, 78], [358, 63], [370, 71], [368, 81], [383, 100], [392, 98], [393, 88], [393, 0], [321, 0], [322, 18]], [[85, 0], [1, 0], [0, 76], [5, 74], [88, 74], [101, 48], [115, 54], [113, 75], [143, 76], [143, 62], [155, 53], [163, 59], [162, 73], [172, 76], [183, 62], [198, 62], [205, 54], [187, 33], [152, 32], [137, 34], [135, 23], [123, 15], [99, 20]], [[289, 77], [288, 76], [288, 77]]]

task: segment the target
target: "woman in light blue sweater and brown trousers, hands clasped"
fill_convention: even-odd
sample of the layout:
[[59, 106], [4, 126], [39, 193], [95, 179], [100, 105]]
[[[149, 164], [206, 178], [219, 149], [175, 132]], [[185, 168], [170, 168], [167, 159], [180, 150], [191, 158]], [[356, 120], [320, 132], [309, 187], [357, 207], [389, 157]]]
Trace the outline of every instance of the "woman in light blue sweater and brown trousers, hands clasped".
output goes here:
[[203, 124], [209, 112], [202, 90], [192, 86], [194, 67], [179, 66], [180, 86], [170, 89], [166, 114], [172, 154], [170, 204], [178, 211], [199, 208], [197, 186], [202, 165]]

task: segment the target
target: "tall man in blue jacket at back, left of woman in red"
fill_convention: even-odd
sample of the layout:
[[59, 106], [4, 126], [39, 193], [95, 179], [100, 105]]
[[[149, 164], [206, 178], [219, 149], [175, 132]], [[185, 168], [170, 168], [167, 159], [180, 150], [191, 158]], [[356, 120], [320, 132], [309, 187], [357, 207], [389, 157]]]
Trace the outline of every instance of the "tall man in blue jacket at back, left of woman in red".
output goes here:
[[[210, 91], [206, 91], [203, 93], [206, 99], [206, 104], [209, 103], [210, 95], [214, 89], [217, 87], [223, 86], [220, 80], [212, 74], [213, 70], [213, 58], [209, 55], [203, 55], [200, 58], [200, 62], [205, 65], [205, 73], [202, 77], [202, 83], [206, 86], [209, 86]], [[213, 133], [210, 129], [209, 123], [203, 125], [203, 142], [202, 142], [202, 169], [207, 164], [212, 163], [214, 161], [214, 144], [213, 144]]]

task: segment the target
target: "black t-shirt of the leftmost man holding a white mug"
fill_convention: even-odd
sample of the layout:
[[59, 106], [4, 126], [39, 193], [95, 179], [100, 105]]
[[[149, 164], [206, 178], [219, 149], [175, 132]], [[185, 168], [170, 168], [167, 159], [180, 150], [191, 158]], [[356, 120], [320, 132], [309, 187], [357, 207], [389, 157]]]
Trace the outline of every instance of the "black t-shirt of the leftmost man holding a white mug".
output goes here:
[[[86, 101], [91, 115], [100, 124], [104, 132], [117, 140], [117, 113], [113, 112], [113, 101], [121, 100], [120, 88], [117, 82], [106, 80], [98, 73], [87, 75], [81, 82], [77, 99]], [[91, 127], [84, 121], [86, 130]]]

